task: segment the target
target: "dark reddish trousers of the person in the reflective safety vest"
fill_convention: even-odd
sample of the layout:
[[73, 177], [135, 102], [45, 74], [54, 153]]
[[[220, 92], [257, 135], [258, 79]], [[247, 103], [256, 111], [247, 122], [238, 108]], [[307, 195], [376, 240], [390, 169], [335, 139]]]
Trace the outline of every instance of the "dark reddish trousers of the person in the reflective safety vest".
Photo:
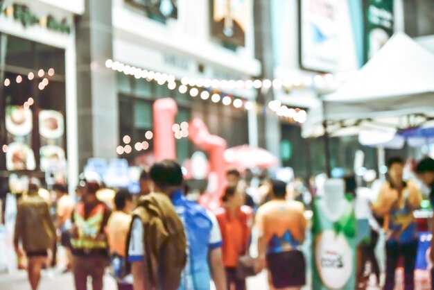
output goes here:
[[72, 271], [76, 290], [87, 290], [87, 278], [92, 278], [92, 290], [103, 290], [107, 257], [103, 255], [74, 256]]

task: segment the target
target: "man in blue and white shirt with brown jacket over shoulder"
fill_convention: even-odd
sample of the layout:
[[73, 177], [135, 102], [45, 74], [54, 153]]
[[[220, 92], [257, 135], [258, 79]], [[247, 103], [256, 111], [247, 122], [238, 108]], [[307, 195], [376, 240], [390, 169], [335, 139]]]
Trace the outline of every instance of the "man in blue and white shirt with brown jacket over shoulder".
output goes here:
[[182, 169], [173, 160], [150, 169], [155, 193], [133, 212], [128, 260], [134, 290], [225, 290], [221, 235], [216, 217], [188, 201]]

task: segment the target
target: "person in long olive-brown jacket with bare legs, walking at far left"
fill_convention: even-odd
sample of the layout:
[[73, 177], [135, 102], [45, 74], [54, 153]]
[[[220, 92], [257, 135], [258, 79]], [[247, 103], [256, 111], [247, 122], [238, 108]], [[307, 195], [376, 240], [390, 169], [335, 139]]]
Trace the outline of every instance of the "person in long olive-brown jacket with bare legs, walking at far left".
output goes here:
[[50, 264], [49, 257], [56, 239], [49, 205], [38, 195], [38, 191], [39, 186], [31, 180], [27, 196], [18, 202], [14, 234], [18, 257], [26, 255], [28, 258], [28, 280], [32, 290], [39, 285], [42, 268]]

